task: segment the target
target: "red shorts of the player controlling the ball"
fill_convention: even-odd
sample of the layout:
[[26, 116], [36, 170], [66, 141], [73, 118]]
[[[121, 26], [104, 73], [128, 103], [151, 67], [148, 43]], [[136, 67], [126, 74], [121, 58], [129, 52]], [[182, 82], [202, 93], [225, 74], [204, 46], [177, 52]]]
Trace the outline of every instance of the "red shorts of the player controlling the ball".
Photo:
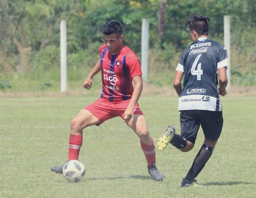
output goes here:
[[[94, 116], [96, 116], [96, 118], [99, 119], [99, 123], [96, 124], [97, 126], [99, 126], [101, 123], [117, 116], [121, 117], [124, 120], [124, 112], [130, 101], [131, 99], [122, 100], [119, 102], [112, 102], [103, 98], [99, 98], [93, 103], [85, 106], [84, 109], [88, 110]], [[140, 110], [138, 103], [134, 107], [134, 114], [143, 115], [143, 112]]]

